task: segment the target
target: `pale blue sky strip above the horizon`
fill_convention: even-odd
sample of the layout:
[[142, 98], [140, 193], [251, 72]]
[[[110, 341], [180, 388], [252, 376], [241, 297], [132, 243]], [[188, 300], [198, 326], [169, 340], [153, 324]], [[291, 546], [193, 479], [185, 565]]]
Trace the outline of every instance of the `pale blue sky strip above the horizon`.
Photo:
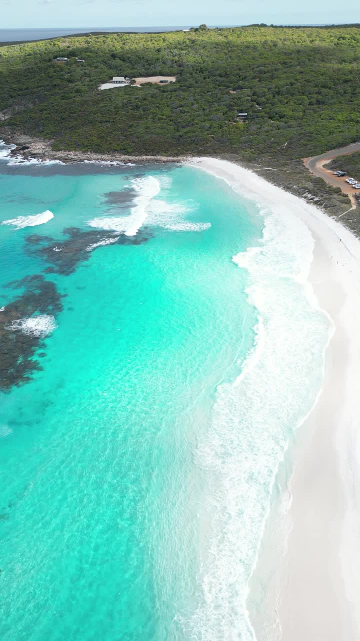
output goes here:
[[359, 0], [0, 0], [0, 28], [360, 22]]

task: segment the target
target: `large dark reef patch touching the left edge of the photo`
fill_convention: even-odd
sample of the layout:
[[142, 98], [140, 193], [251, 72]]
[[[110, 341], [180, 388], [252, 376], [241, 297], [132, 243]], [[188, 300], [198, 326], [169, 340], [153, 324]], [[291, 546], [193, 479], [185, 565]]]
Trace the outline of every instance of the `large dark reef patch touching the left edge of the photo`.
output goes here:
[[12, 281], [6, 287], [24, 291], [0, 312], [0, 389], [3, 391], [29, 381], [35, 370], [42, 369], [33, 356], [43, 344], [43, 337], [24, 333], [21, 328], [14, 328], [13, 323], [38, 314], [55, 315], [63, 308], [63, 296], [56, 285], [41, 274]]

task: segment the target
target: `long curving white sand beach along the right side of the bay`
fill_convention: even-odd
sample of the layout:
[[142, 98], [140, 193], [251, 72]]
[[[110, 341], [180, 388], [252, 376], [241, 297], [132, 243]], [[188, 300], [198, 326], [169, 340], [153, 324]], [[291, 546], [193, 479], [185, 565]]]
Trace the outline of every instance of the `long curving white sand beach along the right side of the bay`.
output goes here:
[[360, 639], [360, 242], [315, 206], [238, 165], [214, 158], [191, 164], [225, 179], [241, 196], [302, 219], [315, 239], [309, 283], [334, 323], [322, 391], [274, 485], [276, 500], [248, 599], [256, 639], [355, 641]]

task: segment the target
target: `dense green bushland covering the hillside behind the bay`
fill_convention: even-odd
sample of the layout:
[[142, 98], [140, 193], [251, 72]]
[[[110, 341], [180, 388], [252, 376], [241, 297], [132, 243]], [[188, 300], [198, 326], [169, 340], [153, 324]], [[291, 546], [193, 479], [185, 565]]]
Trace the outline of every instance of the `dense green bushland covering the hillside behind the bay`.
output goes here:
[[[4, 46], [0, 112], [12, 115], [0, 137], [6, 126], [53, 149], [293, 160], [359, 140], [359, 62], [357, 27], [202, 26]], [[113, 75], [177, 82], [98, 91]]]

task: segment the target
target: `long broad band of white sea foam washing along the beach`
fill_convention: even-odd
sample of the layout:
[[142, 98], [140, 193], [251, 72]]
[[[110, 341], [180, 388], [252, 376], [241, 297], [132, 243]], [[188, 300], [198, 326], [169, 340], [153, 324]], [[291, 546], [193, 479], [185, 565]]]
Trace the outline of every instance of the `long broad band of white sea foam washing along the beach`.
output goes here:
[[183, 621], [190, 638], [255, 638], [246, 601], [275, 474], [316, 402], [332, 330], [308, 295], [313, 246], [297, 217], [266, 212], [261, 244], [233, 258], [248, 273], [258, 324], [240, 374], [217, 388], [211, 427], [196, 453], [209, 482], [211, 535], [197, 606]]

